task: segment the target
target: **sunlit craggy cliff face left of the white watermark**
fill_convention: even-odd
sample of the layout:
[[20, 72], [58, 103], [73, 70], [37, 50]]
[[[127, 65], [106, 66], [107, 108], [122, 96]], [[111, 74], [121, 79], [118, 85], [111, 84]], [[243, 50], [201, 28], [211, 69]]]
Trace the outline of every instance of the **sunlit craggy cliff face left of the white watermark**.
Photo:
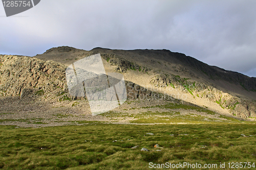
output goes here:
[[[48, 93], [65, 89], [66, 66], [55, 61], [42, 61], [24, 56], [0, 56], [0, 95], [14, 96], [33, 91]], [[30, 89], [30, 90], [26, 90]]]

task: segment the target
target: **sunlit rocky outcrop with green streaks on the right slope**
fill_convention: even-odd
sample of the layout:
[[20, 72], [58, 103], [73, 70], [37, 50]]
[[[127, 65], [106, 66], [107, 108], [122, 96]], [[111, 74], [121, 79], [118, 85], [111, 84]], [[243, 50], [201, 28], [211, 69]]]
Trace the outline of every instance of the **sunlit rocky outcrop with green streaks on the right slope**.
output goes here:
[[255, 101], [243, 100], [204, 83], [191, 82], [189, 79], [182, 79], [175, 75], [155, 76], [151, 79], [151, 83], [157, 87], [171, 86], [184, 93], [194, 95], [194, 98], [210, 100], [219, 104], [221, 108], [228, 109], [234, 116], [238, 115], [243, 118], [256, 117]]

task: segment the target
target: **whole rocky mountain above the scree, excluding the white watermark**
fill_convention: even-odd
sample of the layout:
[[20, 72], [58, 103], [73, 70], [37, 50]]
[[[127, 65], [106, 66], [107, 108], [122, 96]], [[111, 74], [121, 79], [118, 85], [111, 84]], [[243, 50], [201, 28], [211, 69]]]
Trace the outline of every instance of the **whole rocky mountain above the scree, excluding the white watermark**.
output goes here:
[[73, 62], [97, 53], [101, 54], [107, 73], [123, 74], [127, 93], [131, 92], [134, 99], [140, 94], [161, 93], [176, 103], [248, 120], [256, 117], [256, 78], [168, 50], [97, 47], [84, 51], [61, 46], [34, 57], [0, 55], [0, 95], [83, 100], [68, 95], [65, 70]]

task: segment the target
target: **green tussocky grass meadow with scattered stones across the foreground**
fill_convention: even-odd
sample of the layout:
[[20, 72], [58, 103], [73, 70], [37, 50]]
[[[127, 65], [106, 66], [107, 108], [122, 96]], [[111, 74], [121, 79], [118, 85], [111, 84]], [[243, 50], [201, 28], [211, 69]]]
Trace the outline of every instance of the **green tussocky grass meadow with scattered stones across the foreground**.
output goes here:
[[[0, 126], [0, 169], [154, 169], [150, 162], [216, 163], [215, 169], [234, 169], [227, 163], [256, 163], [255, 134], [255, 124]], [[154, 148], [156, 143], [163, 148]], [[131, 149], [135, 145], [139, 147]]]

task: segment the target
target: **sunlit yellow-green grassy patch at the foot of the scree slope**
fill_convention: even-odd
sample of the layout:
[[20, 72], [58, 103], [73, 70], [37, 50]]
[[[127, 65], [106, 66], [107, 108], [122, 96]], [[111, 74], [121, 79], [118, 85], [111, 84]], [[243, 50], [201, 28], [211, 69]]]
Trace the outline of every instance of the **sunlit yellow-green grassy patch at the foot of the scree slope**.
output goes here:
[[[159, 108], [159, 109], [156, 109]], [[225, 118], [213, 111], [182, 104], [168, 103], [150, 107], [133, 107], [134, 112], [109, 111], [102, 113], [104, 117], [114, 120], [137, 124], [241, 124], [242, 122], [233, 117]]]

